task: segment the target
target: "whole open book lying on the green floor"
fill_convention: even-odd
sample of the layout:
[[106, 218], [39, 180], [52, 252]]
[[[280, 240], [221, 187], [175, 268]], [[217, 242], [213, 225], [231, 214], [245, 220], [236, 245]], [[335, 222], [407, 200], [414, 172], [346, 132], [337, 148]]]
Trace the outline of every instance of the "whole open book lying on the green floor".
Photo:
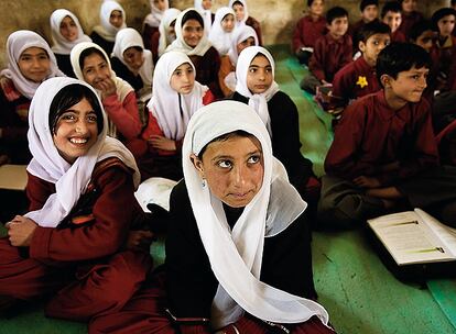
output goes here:
[[399, 266], [456, 260], [456, 229], [420, 209], [368, 220]]

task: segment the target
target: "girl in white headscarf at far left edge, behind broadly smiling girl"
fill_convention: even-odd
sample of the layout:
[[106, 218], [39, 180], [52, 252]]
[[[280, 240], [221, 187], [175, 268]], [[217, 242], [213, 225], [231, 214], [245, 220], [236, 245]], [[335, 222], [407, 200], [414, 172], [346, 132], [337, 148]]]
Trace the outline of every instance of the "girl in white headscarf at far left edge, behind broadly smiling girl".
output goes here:
[[25, 165], [31, 155], [26, 142], [30, 101], [46, 79], [64, 76], [47, 42], [20, 30], [8, 36], [8, 67], [0, 73], [0, 165]]

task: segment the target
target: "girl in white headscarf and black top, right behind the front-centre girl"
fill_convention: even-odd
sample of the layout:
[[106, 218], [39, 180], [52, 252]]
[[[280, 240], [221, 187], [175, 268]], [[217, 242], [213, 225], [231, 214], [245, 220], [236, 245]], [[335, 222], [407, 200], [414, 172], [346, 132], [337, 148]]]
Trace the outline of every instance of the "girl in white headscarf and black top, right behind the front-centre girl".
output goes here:
[[239, 55], [236, 77], [232, 99], [253, 107], [263, 120], [274, 156], [285, 166], [290, 182], [310, 203], [310, 214], [315, 213], [319, 181], [312, 162], [301, 154], [297, 108], [274, 81], [274, 59], [261, 46], [247, 47]]

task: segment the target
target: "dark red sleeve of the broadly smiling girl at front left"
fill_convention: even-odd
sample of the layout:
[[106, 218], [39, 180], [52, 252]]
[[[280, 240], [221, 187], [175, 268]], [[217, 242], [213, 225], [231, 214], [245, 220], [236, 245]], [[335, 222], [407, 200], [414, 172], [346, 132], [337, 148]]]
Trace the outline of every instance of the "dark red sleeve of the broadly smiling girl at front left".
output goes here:
[[30, 244], [31, 258], [87, 260], [111, 255], [122, 246], [135, 200], [132, 176], [121, 167], [110, 167], [97, 185], [100, 194], [93, 208], [94, 223], [76, 229], [39, 226]]

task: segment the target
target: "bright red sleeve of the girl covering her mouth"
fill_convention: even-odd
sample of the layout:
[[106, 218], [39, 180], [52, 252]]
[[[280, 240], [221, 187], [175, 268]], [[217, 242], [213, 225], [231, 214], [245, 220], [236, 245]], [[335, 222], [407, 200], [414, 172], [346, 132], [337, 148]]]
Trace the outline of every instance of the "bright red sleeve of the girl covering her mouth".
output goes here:
[[127, 140], [139, 136], [141, 133], [141, 121], [134, 91], [129, 92], [123, 102], [119, 100], [117, 94], [107, 97], [102, 100], [102, 105], [122, 136]]

